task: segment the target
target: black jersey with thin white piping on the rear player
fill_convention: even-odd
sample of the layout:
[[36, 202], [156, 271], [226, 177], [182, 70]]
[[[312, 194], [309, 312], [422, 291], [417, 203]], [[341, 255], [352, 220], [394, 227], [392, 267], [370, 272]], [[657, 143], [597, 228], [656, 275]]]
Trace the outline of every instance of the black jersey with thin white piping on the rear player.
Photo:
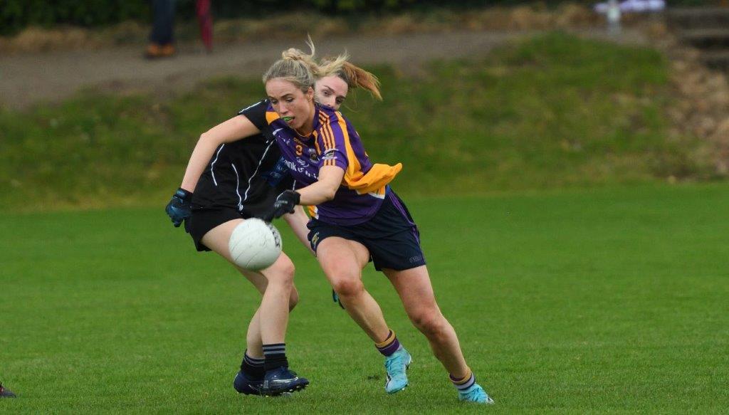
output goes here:
[[[254, 125], [266, 125], [268, 101], [238, 112]], [[247, 217], [264, 213], [276, 196], [294, 185], [276, 139], [269, 129], [256, 136], [221, 144], [192, 194], [193, 209], [237, 209]]]

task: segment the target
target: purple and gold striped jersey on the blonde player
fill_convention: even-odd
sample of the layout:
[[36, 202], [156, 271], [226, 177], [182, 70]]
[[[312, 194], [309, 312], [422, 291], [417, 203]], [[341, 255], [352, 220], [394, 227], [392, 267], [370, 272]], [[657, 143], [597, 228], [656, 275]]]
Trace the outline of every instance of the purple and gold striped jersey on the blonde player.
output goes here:
[[344, 178], [335, 198], [314, 207], [312, 214], [332, 225], [366, 222], [380, 209], [386, 187], [402, 164], [373, 164], [364, 152], [359, 134], [340, 112], [319, 105], [314, 111], [314, 130], [308, 136], [300, 136], [290, 128], [270, 104], [266, 111], [269, 128], [276, 136], [296, 188], [316, 182], [323, 166], [342, 168]]

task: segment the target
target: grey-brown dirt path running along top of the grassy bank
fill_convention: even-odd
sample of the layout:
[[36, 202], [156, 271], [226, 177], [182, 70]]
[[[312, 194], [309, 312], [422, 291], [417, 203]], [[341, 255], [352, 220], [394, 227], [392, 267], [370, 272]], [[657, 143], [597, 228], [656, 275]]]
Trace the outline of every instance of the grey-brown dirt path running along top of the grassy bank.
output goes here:
[[[590, 37], [623, 43], [644, 43], [637, 31], [608, 37], [603, 31], [582, 31]], [[352, 61], [367, 65], [393, 63], [403, 69], [435, 58], [485, 55], [498, 44], [526, 32], [457, 32], [399, 36], [343, 36], [316, 40], [317, 55], [347, 50]], [[303, 41], [278, 40], [256, 44], [222, 44], [212, 54], [198, 47], [182, 45], [175, 58], [147, 61], [142, 48], [38, 53], [0, 57], [0, 103], [23, 108], [39, 101], [59, 101], [80, 88], [120, 92], [154, 90], [165, 94], [192, 88], [197, 82], [217, 75], [257, 77], [287, 47], [304, 48]]]

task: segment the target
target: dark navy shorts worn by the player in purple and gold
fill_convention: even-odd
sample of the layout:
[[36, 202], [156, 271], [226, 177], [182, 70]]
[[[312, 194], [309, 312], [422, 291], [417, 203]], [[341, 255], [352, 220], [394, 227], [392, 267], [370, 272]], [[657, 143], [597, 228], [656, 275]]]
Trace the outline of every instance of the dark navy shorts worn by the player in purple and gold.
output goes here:
[[402, 271], [425, 265], [418, 227], [405, 203], [391, 190], [385, 195], [380, 210], [367, 222], [342, 226], [312, 219], [307, 226], [309, 244], [314, 251], [325, 238], [338, 236], [367, 247], [377, 271], [383, 268]]

